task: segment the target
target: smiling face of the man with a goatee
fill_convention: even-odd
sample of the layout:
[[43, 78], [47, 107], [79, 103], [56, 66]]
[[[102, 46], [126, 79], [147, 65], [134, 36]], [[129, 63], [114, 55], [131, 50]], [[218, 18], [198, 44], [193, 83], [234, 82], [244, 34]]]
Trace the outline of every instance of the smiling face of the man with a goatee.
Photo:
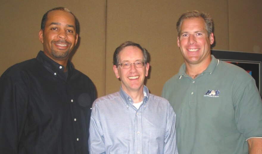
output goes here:
[[77, 39], [75, 18], [71, 13], [62, 10], [49, 12], [44, 31], [39, 31], [46, 56], [61, 65], [66, 64]]

